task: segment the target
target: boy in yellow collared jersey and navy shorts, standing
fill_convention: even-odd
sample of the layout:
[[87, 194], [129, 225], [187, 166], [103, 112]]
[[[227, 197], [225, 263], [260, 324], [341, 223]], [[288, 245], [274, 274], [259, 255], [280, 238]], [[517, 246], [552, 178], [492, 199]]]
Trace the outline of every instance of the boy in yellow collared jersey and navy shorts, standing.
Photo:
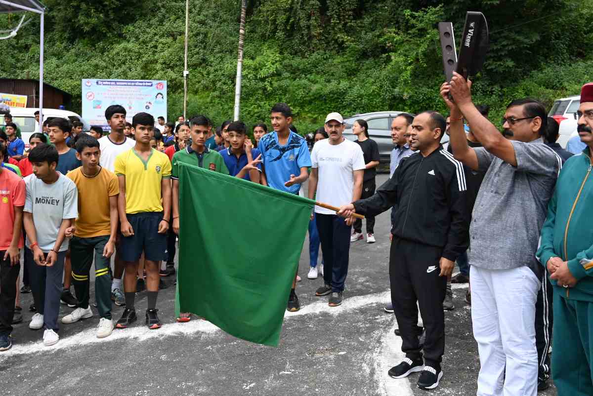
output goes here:
[[[159, 264], [167, 259], [167, 230], [171, 211], [171, 162], [166, 154], [150, 146], [154, 117], [138, 113], [132, 119], [136, 145], [115, 160], [119, 178], [119, 218], [122, 223], [120, 248], [125, 262], [124, 295], [126, 309], [117, 328], [136, 320], [134, 299], [138, 260], [144, 251], [148, 309], [146, 325], [161, 327], [157, 316]], [[162, 199], [162, 202], [161, 202]]]

